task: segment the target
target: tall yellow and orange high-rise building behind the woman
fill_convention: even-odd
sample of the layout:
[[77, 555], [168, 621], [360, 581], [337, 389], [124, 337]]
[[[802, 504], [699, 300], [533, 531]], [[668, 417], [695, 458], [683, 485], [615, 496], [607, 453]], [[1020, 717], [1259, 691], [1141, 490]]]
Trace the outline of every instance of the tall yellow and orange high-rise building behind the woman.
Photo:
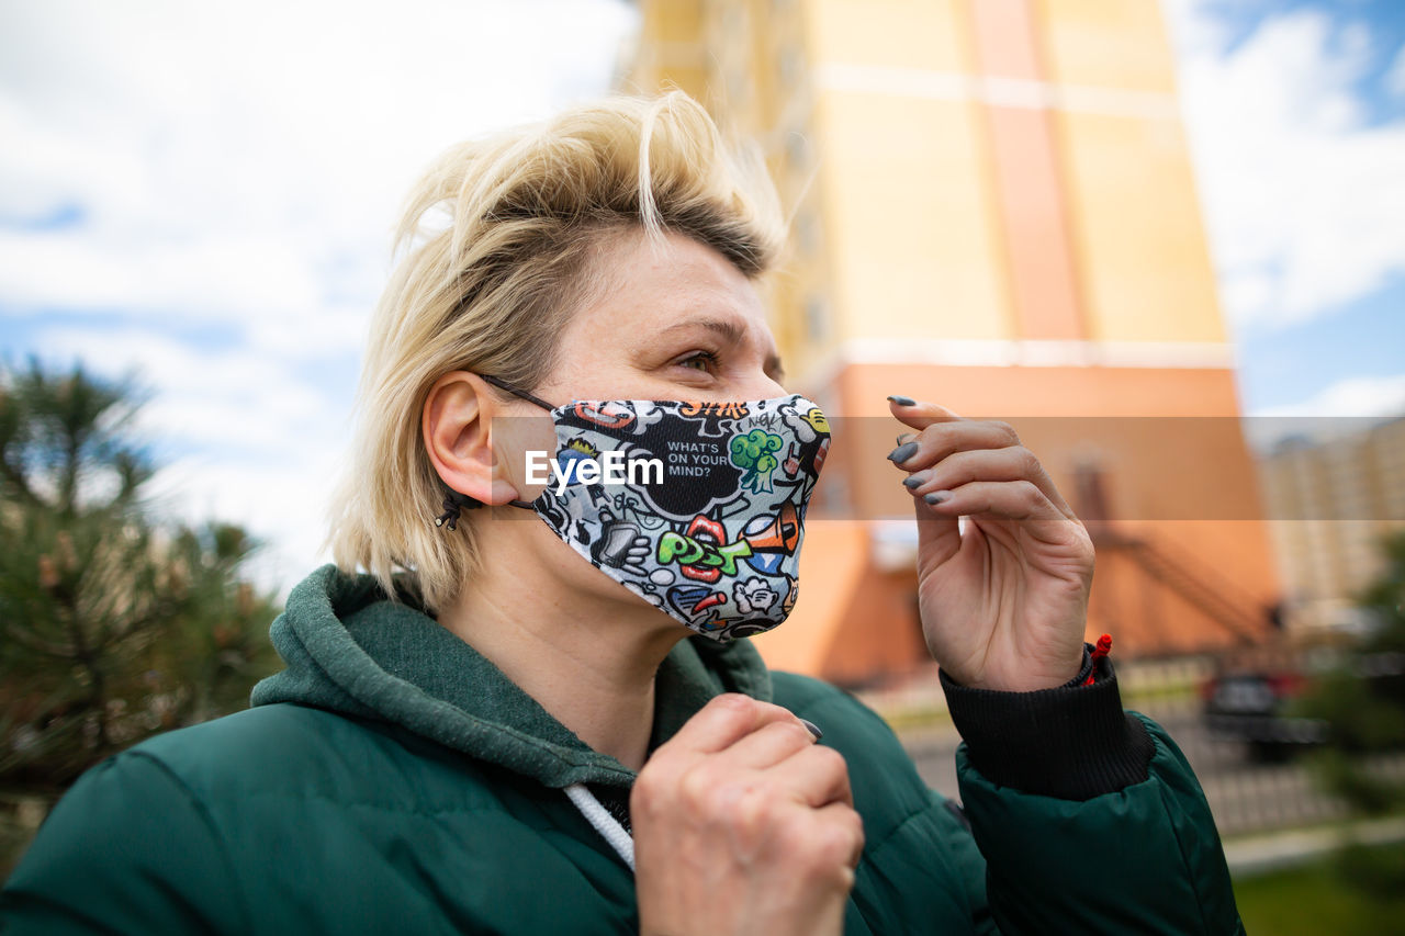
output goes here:
[[836, 424], [773, 665], [926, 662], [885, 396], [1003, 419], [1099, 541], [1123, 654], [1252, 639], [1276, 575], [1155, 0], [639, 0], [621, 84], [762, 142], [767, 301]]

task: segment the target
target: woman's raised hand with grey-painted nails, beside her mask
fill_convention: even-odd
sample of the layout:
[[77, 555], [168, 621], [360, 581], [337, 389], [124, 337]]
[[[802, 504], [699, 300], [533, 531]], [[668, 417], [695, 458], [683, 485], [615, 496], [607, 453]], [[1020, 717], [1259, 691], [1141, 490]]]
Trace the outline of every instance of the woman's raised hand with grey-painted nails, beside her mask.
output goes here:
[[[964, 686], [1028, 691], [1082, 662], [1093, 542], [1014, 430], [889, 398], [917, 430], [889, 460], [917, 512], [917, 590], [932, 655]], [[967, 517], [965, 530], [958, 517]]]

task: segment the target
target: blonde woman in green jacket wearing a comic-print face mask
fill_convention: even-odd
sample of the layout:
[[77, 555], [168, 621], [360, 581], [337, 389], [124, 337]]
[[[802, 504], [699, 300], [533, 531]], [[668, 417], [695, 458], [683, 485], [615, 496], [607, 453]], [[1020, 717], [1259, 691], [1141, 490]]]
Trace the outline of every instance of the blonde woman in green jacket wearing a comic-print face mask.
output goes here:
[[794, 606], [829, 438], [757, 292], [783, 233], [679, 93], [445, 155], [287, 669], [90, 770], [13, 930], [1239, 929], [1190, 767], [1082, 642], [1089, 537], [1007, 426], [889, 398], [969, 821], [742, 639]]

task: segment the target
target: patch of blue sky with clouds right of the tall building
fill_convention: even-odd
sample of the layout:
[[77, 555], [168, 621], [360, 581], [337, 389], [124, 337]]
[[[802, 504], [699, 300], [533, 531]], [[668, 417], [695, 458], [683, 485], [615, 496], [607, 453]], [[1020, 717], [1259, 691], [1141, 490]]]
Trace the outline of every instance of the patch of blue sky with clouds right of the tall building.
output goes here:
[[1405, 3], [1165, 8], [1243, 410], [1405, 413]]

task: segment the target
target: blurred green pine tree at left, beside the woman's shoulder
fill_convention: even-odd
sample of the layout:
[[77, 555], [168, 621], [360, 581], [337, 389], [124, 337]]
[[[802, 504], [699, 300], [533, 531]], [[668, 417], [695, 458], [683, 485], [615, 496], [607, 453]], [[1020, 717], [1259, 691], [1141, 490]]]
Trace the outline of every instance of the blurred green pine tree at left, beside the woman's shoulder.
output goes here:
[[0, 790], [53, 794], [142, 738], [244, 708], [275, 609], [228, 524], [160, 523], [128, 382], [0, 367]]

